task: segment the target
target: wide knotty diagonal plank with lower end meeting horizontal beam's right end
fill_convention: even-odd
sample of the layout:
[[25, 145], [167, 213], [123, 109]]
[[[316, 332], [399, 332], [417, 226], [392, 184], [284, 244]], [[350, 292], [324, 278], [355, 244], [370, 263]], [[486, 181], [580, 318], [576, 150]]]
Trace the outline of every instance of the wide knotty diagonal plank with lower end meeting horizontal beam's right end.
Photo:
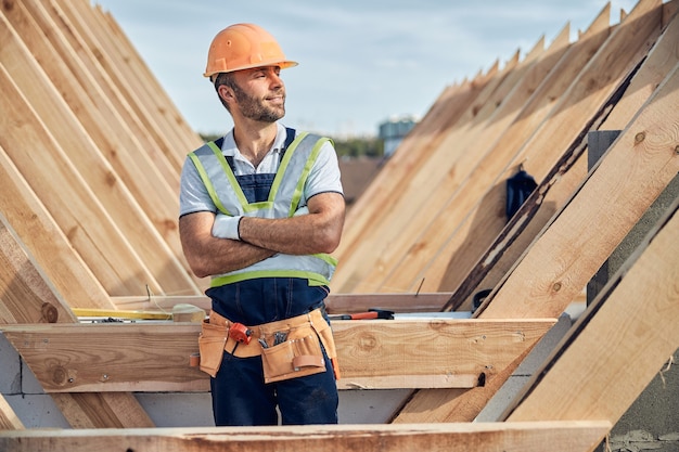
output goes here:
[[563, 312], [679, 171], [678, 109], [679, 64], [486, 300], [484, 318]]

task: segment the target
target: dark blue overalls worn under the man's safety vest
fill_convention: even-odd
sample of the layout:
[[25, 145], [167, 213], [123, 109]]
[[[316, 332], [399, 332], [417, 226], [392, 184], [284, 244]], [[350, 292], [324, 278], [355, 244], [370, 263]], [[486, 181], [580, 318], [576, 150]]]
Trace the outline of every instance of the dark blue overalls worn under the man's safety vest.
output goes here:
[[[294, 131], [287, 137], [285, 147]], [[268, 198], [274, 176], [236, 176], [236, 180], [248, 203], [256, 203]], [[215, 312], [248, 326], [323, 307], [328, 293], [326, 286], [310, 286], [297, 277], [254, 279], [206, 290]], [[277, 425], [277, 406], [284, 425], [337, 423], [337, 387], [325, 353], [325, 372], [265, 384], [261, 357], [236, 358], [230, 351], [225, 351], [219, 372], [210, 379], [217, 426]]]

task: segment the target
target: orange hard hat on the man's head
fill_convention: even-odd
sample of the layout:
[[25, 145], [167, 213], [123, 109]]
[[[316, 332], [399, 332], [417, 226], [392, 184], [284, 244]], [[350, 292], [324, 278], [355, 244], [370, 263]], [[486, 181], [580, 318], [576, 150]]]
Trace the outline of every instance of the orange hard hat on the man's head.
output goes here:
[[231, 25], [215, 36], [207, 52], [205, 77], [260, 66], [296, 66], [267, 30], [254, 24]]

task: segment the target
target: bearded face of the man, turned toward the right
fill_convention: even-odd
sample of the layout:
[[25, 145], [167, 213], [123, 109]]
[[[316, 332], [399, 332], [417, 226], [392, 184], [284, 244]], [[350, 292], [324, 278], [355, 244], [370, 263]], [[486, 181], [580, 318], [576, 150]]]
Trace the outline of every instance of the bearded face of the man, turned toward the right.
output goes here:
[[285, 116], [285, 85], [278, 66], [257, 67], [234, 74], [233, 94], [241, 114], [260, 122]]

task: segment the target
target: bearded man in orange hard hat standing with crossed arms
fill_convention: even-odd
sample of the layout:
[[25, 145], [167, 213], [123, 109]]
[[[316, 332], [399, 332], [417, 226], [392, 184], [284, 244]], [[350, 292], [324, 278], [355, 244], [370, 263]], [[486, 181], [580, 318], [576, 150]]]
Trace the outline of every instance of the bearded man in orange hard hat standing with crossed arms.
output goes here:
[[296, 66], [253, 24], [221, 30], [208, 77], [233, 118], [189, 154], [179, 232], [213, 309], [198, 339], [216, 425], [334, 424], [338, 377], [324, 299], [345, 203], [329, 139], [279, 122], [281, 69]]

